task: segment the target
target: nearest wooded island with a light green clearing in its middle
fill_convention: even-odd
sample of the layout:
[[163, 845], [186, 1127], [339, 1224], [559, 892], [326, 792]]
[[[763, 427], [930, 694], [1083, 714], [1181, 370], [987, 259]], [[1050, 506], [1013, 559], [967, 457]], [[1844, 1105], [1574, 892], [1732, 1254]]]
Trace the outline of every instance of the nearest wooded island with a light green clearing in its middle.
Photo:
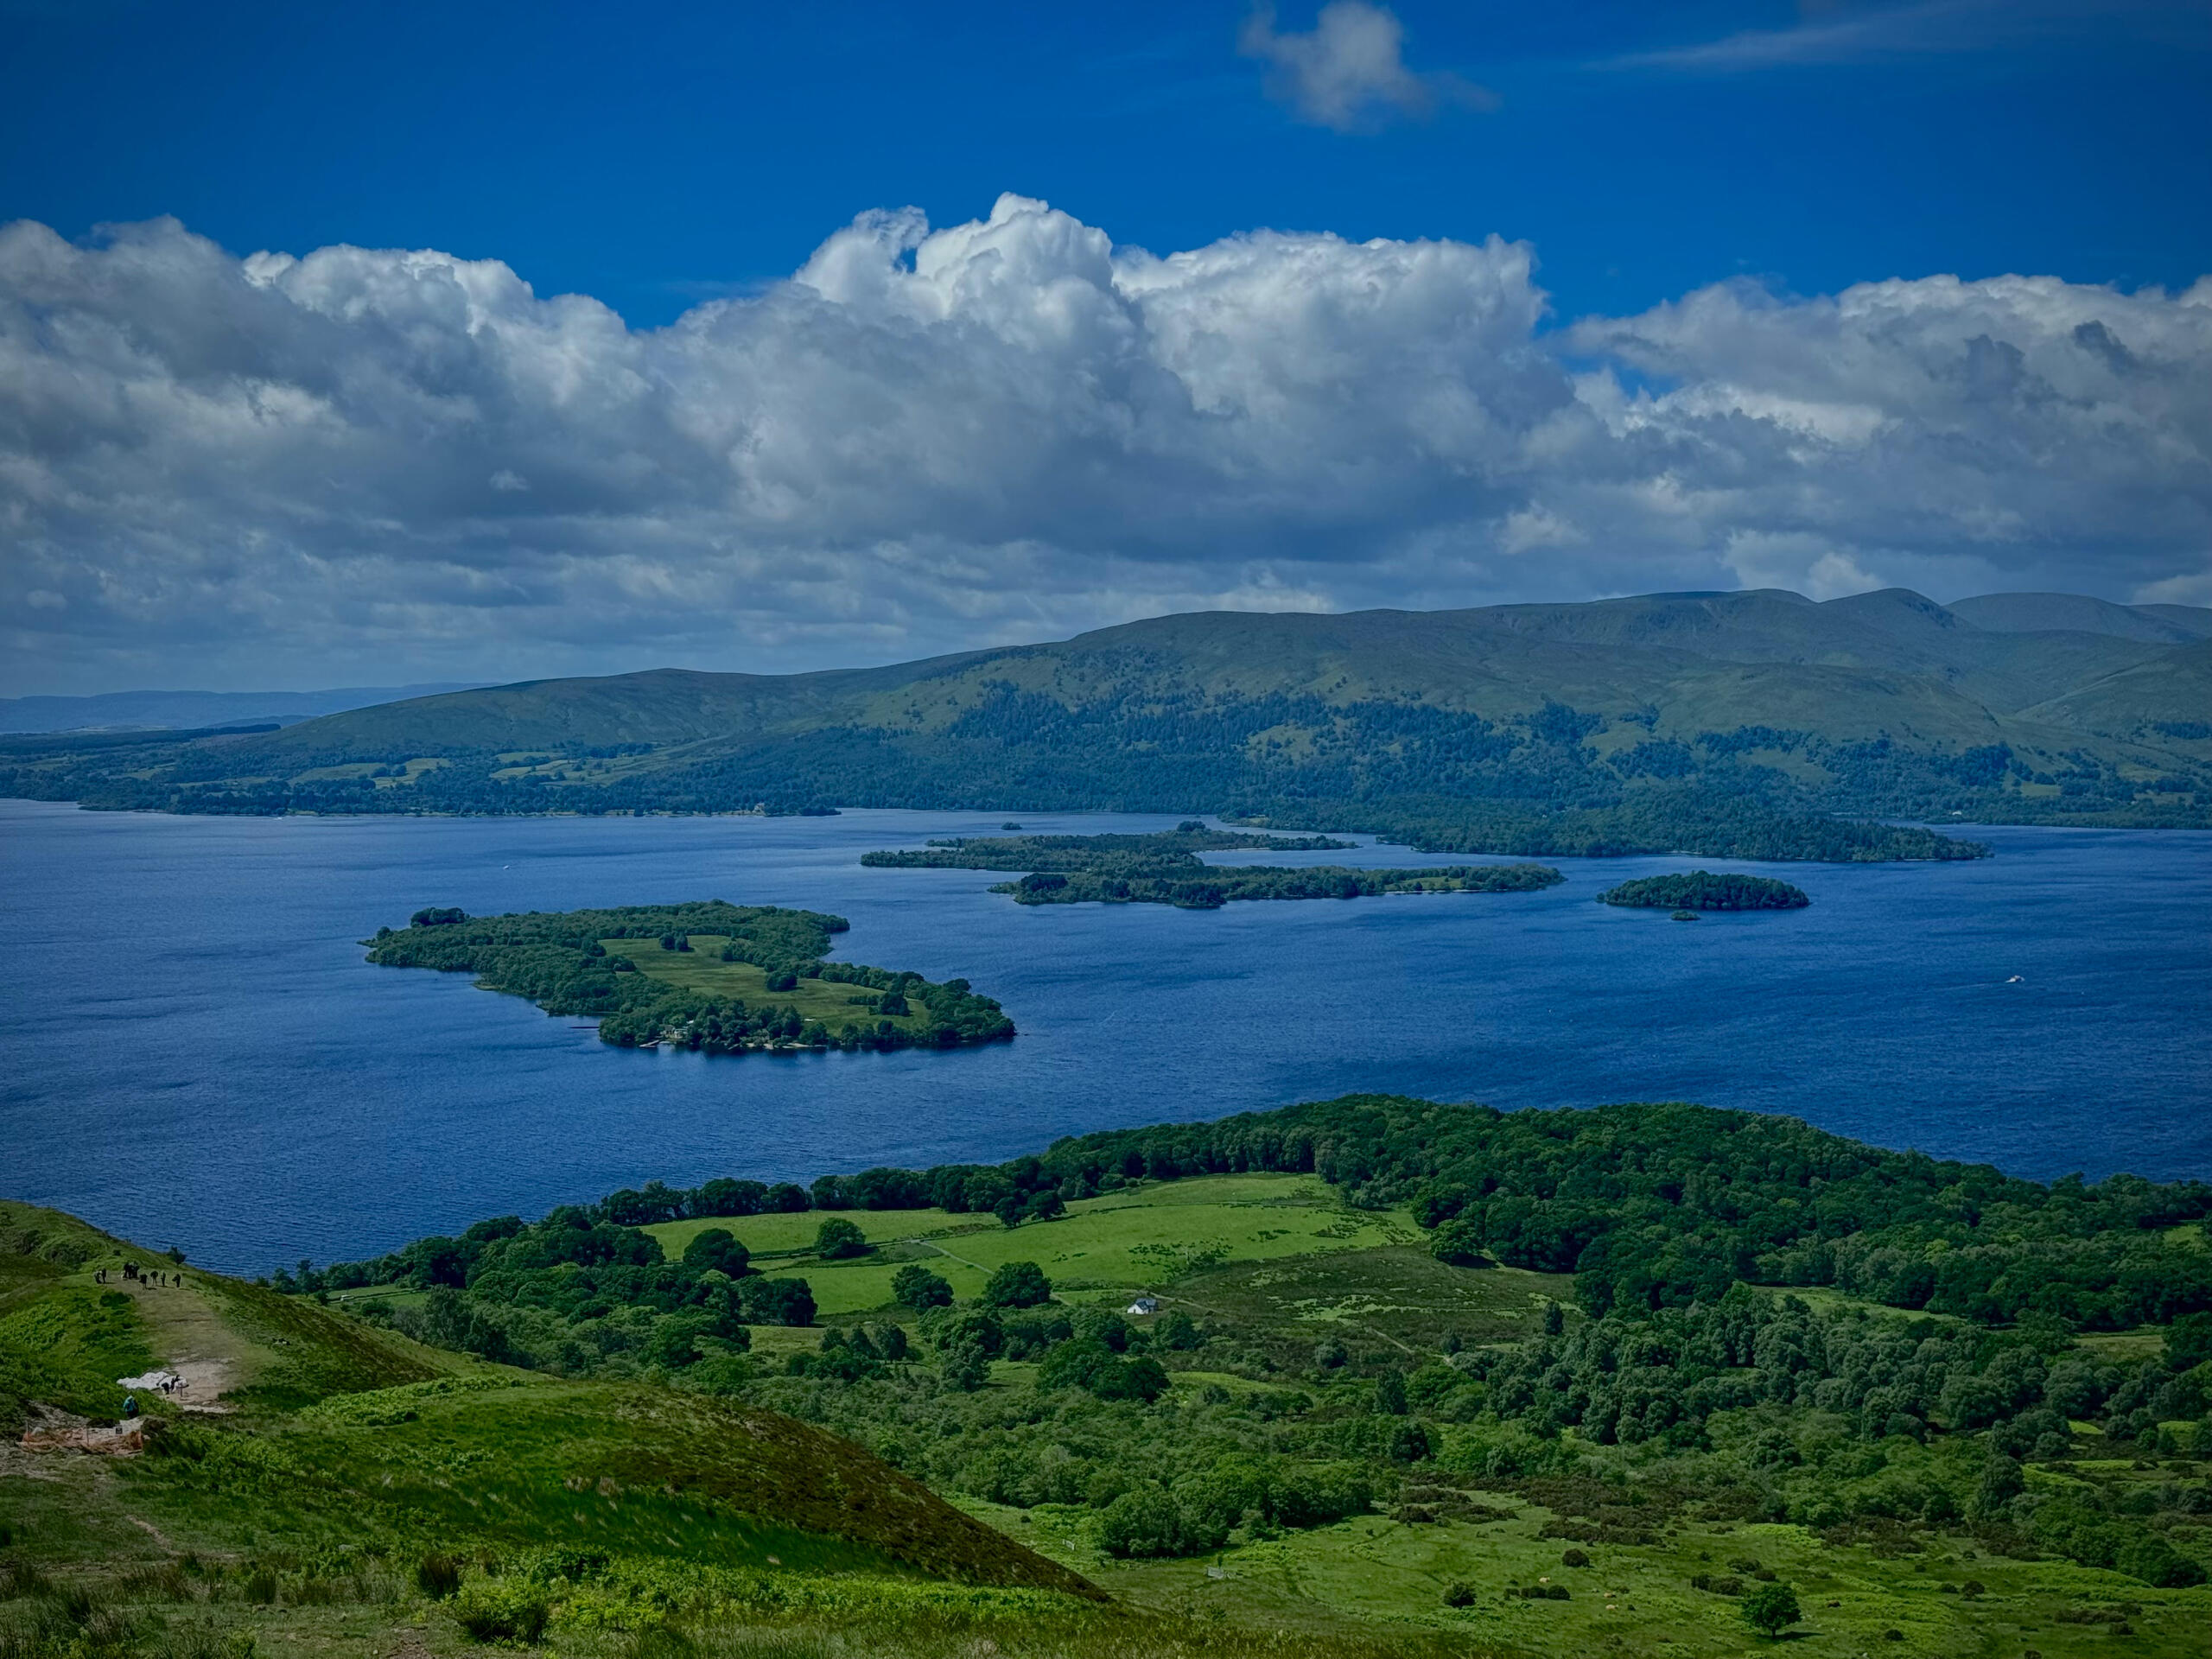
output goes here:
[[847, 927], [719, 898], [524, 916], [427, 907], [363, 942], [380, 967], [476, 973], [487, 991], [597, 1020], [599, 1042], [619, 1048], [962, 1048], [1013, 1035], [1006, 1011], [967, 980], [825, 962]]

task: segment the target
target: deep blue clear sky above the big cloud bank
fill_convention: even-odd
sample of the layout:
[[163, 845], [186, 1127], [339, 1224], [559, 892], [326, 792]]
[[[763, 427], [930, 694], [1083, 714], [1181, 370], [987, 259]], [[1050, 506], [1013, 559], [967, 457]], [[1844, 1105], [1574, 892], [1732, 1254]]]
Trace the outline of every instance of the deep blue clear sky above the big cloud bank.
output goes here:
[[[1155, 252], [1528, 239], [1568, 316], [1739, 274], [2212, 270], [2208, 7], [1396, 11], [1411, 69], [1498, 108], [1301, 122], [1239, 55], [1245, 9], [1190, 0], [15, 9], [0, 208], [442, 248], [641, 325], [790, 274], [863, 208], [945, 223], [1002, 190]], [[1772, 51], [1694, 55], [1745, 35]]]

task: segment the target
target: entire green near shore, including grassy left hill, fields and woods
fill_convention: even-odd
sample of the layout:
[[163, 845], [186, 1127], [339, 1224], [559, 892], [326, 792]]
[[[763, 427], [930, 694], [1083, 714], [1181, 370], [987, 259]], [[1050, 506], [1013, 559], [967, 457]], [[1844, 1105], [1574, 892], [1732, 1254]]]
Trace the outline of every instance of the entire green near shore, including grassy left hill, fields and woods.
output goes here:
[[[88, 1283], [115, 1241], [7, 1208], [18, 1400], [234, 1376], [139, 1455], [0, 1449], [0, 1641], [1723, 1659], [1772, 1615], [1836, 1659], [2179, 1659], [2208, 1219], [1750, 1113], [1376, 1095], [650, 1183], [268, 1287]], [[807, 1305], [732, 1327], [765, 1274]]]

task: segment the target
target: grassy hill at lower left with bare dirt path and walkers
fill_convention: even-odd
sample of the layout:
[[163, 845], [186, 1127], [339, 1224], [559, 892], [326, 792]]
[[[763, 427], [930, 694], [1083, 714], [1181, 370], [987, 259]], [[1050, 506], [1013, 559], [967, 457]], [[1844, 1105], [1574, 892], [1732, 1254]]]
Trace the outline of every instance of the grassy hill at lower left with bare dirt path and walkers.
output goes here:
[[[263, 1641], [321, 1648], [334, 1632], [279, 1613], [338, 1608], [358, 1637], [418, 1619], [398, 1606], [418, 1588], [451, 1597], [456, 1639], [531, 1641], [549, 1617], [635, 1628], [679, 1601], [1046, 1624], [1102, 1601], [765, 1407], [422, 1347], [18, 1203], [0, 1431], [20, 1440], [0, 1447], [0, 1650], [20, 1659], [250, 1652], [263, 1608]], [[195, 1635], [221, 1604], [230, 1632]]]

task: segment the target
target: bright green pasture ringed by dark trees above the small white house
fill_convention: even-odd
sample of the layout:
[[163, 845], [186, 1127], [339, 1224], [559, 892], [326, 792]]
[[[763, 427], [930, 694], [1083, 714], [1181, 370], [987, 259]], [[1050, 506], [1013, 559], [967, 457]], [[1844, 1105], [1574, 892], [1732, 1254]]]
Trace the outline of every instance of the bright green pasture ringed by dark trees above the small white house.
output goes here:
[[[856, 1261], [812, 1254], [823, 1212], [666, 1221], [646, 1232], [681, 1254], [699, 1232], [723, 1228], [779, 1276], [803, 1276], [823, 1314], [860, 1314], [891, 1301], [891, 1274], [920, 1261], [960, 1298], [982, 1294], [1009, 1261], [1035, 1261], [1071, 1301], [1159, 1290], [1228, 1263], [1409, 1245], [1400, 1210], [1345, 1210], [1310, 1175], [1212, 1175], [1077, 1199], [1057, 1221], [1002, 1228], [947, 1210], [838, 1210], [874, 1250]], [[796, 1254], [781, 1254], [796, 1252]]]

